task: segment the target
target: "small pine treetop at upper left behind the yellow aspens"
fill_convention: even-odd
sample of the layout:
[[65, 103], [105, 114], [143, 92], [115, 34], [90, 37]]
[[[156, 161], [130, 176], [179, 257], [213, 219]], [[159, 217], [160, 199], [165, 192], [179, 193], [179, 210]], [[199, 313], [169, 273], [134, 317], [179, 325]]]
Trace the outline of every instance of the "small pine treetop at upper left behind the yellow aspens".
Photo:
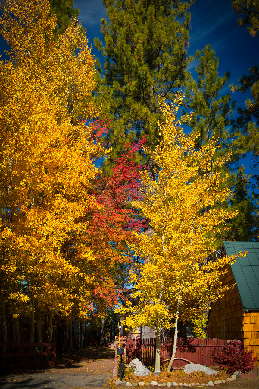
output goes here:
[[56, 39], [70, 25], [72, 18], [77, 18], [79, 9], [73, 8], [74, 0], [49, 0], [50, 14], [56, 15], [57, 27], [55, 30]]

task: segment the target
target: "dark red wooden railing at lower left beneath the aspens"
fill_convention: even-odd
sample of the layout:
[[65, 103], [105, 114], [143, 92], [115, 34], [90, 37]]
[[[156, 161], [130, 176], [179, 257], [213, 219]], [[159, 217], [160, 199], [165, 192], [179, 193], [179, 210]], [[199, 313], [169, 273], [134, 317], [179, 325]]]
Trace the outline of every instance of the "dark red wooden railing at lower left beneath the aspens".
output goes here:
[[56, 343], [0, 342], [0, 347], [12, 352], [0, 353], [1, 370], [29, 366], [51, 366], [56, 363]]

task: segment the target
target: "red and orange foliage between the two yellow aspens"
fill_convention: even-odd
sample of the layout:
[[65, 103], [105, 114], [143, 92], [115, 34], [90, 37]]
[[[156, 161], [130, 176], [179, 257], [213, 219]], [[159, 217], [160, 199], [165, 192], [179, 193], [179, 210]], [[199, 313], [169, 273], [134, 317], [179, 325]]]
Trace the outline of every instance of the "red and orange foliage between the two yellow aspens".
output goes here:
[[[107, 132], [104, 123], [96, 121], [93, 124], [94, 140], [99, 141]], [[84, 233], [85, 242], [96, 257], [93, 294], [97, 305], [113, 306], [120, 298], [122, 291], [116, 286], [116, 268], [120, 263], [131, 262], [126, 242], [136, 240], [132, 230], [139, 231], [145, 223], [131, 205], [132, 200], [142, 196], [139, 178], [144, 166], [137, 163], [136, 153], [145, 142], [143, 138], [138, 143], [125, 145], [124, 153], [115, 161], [111, 177], [100, 170], [90, 195], [103, 207], [85, 209], [85, 218], [89, 223]]]

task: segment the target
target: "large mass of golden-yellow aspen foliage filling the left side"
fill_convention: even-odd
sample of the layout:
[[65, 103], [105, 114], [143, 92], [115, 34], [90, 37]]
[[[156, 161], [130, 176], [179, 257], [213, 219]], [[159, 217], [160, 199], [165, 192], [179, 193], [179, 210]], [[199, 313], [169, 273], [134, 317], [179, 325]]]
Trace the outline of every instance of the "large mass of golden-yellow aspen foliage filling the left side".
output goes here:
[[53, 312], [85, 320], [97, 286], [112, 290], [111, 268], [123, 260], [108, 233], [103, 255], [87, 241], [86, 210], [104, 209], [91, 194], [103, 148], [78, 122], [99, 112], [95, 60], [79, 22], [54, 42], [47, 0], [4, 0], [1, 10], [10, 47], [10, 61], [0, 61], [1, 317], [7, 307], [32, 323], [34, 308], [50, 322]]

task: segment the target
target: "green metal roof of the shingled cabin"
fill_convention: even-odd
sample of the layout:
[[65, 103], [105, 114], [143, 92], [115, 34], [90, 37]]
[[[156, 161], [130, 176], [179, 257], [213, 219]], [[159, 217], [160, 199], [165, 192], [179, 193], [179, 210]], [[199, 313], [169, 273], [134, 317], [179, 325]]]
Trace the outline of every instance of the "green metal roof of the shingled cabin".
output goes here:
[[259, 309], [259, 242], [223, 242], [228, 256], [247, 251], [238, 257], [231, 270], [244, 310]]

